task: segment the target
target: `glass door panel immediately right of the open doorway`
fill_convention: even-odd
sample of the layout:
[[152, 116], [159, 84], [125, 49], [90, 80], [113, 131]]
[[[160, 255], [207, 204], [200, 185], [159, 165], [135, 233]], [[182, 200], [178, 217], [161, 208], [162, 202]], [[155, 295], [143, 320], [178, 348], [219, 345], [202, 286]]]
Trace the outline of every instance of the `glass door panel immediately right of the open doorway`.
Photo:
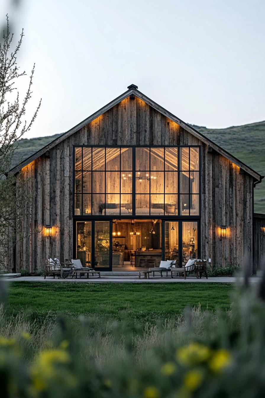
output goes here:
[[176, 267], [179, 267], [177, 221], [165, 222], [165, 260], [176, 260]]

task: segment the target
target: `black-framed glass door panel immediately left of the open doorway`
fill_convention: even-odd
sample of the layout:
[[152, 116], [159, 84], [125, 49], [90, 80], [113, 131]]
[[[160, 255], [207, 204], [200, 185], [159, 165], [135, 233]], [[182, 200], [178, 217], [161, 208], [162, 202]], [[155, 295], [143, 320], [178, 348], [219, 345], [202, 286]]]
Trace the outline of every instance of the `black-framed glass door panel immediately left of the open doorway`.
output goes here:
[[110, 222], [95, 221], [94, 267], [110, 267]]

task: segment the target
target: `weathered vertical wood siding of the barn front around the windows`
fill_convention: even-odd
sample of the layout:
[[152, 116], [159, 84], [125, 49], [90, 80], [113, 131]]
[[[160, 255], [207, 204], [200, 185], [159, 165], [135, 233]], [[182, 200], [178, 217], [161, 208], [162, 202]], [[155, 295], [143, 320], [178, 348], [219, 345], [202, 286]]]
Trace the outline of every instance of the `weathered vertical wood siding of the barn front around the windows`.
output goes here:
[[[71, 258], [73, 252], [73, 145], [200, 145], [201, 146], [201, 256], [213, 266], [242, 265], [252, 259], [252, 182], [222, 155], [208, 153], [207, 145], [144, 101], [130, 97], [51, 148], [23, 168], [31, 177], [29, 190], [37, 195], [27, 204], [21, 228], [25, 238], [17, 244], [17, 270], [41, 269], [52, 256]], [[44, 236], [45, 224], [52, 237]], [[220, 226], [228, 225], [220, 240]], [[29, 235], [34, 229], [41, 232]]]

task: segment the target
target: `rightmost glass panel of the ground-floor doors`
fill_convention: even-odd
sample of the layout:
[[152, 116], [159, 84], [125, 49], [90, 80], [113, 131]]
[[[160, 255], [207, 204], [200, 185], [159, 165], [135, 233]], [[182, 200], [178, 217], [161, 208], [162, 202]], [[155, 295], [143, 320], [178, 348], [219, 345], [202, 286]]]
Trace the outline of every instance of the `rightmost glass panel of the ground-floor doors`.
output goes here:
[[182, 263], [198, 257], [198, 224], [197, 221], [182, 222]]

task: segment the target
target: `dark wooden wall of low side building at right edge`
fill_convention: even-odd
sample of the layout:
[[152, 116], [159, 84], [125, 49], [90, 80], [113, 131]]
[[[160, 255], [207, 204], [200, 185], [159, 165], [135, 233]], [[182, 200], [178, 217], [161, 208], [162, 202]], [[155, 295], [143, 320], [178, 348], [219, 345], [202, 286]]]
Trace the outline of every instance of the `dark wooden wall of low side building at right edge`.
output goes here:
[[254, 261], [253, 272], [265, 267], [265, 214], [254, 213], [253, 223]]

